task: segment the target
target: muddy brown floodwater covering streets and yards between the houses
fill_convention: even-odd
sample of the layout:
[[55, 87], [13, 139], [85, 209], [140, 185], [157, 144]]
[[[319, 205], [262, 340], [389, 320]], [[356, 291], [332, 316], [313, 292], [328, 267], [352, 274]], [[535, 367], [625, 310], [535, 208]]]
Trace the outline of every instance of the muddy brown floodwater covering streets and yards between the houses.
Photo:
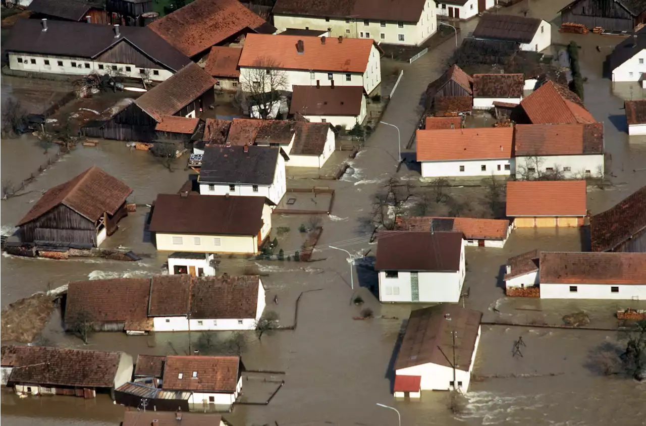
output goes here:
[[[531, 0], [502, 10], [522, 13], [552, 21], [557, 10], [568, 0]], [[477, 19], [461, 23], [461, 34], [471, 32]], [[583, 47], [582, 70], [587, 76], [585, 103], [595, 118], [605, 123], [605, 146], [611, 158], [605, 189], [589, 189], [592, 213], [607, 209], [635, 189], [643, 186], [641, 164], [646, 164], [646, 140], [625, 133], [623, 100], [643, 98], [643, 90], [635, 85], [612, 85], [601, 78], [601, 63], [618, 37], [588, 34], [560, 34], [552, 27], [554, 41], [567, 44], [570, 39]], [[462, 37], [462, 36], [460, 36]], [[426, 85], [437, 78], [444, 60], [452, 52], [453, 40], [422, 56], [412, 65], [384, 61], [384, 69], [401, 67], [404, 78], [395, 92], [383, 120], [398, 125], [402, 145], [410, 139], [421, 112], [421, 94]], [[601, 52], [596, 50], [601, 48]], [[3, 92], [0, 90], [0, 95]], [[404, 150], [406, 151], [406, 150]], [[414, 146], [413, 146], [414, 151]], [[43, 154], [32, 138], [0, 141], [0, 182], [19, 182], [26, 178], [55, 151]], [[406, 152], [404, 153], [406, 154]], [[461, 414], [447, 409], [443, 392], [424, 392], [420, 401], [395, 401], [390, 393], [391, 365], [396, 356], [395, 344], [413, 306], [380, 305], [368, 286], [375, 274], [370, 260], [359, 259], [355, 273], [355, 289], [349, 284], [349, 266], [345, 253], [325, 249], [336, 245], [360, 258], [374, 250], [362, 218], [370, 213], [373, 193], [379, 182], [395, 171], [397, 134], [395, 129], [377, 127], [357, 158], [351, 160], [352, 173], [339, 181], [324, 185], [336, 189], [332, 214], [324, 218], [324, 232], [314, 258], [316, 262], [255, 262], [247, 259], [226, 259], [225, 272], [237, 273], [243, 266], [255, 264], [264, 275], [268, 300], [278, 295], [279, 304], [269, 306], [280, 314], [281, 322], [291, 324], [294, 303], [306, 290], [300, 302], [298, 326], [294, 331], [280, 331], [258, 341], [247, 335], [248, 347], [243, 354], [247, 368], [282, 370], [285, 385], [267, 406], [238, 405], [225, 418], [235, 426], [264, 425], [396, 425], [394, 412], [375, 406], [385, 403], [397, 407], [404, 425], [607, 425], [641, 423], [644, 411], [645, 385], [621, 375], [601, 376], [594, 363], [600, 348], [613, 345], [615, 332], [583, 330], [532, 329], [512, 326], [484, 326], [475, 373], [482, 381], [473, 381], [466, 394], [466, 407]], [[49, 167], [26, 188], [21, 197], [0, 201], [0, 229], [10, 233], [14, 224], [28, 211], [42, 191], [98, 165], [134, 189], [133, 200], [149, 204], [158, 193], [175, 192], [187, 178], [187, 171], [178, 162], [171, 173], [147, 153], [130, 151], [121, 142], [101, 142], [98, 147], [78, 147]], [[419, 171], [402, 167], [404, 178], [413, 180]], [[290, 186], [312, 186], [315, 180], [291, 180]], [[119, 231], [107, 240], [107, 247], [125, 247], [138, 253], [149, 253], [139, 262], [114, 262], [99, 259], [48, 261], [0, 256], [0, 305], [45, 290], [70, 280], [99, 277], [145, 277], [162, 271], [166, 255], [156, 253], [149, 237], [143, 233], [147, 209], [120, 222]], [[289, 235], [281, 242], [285, 251], [298, 250], [297, 229], [307, 218], [276, 217], [274, 225], [289, 226]], [[496, 318], [528, 323], [561, 322], [561, 316], [585, 310], [599, 327], [614, 326], [612, 312], [621, 303], [590, 301], [541, 301], [507, 299], [501, 288], [501, 266], [511, 255], [539, 248], [541, 250], [581, 250], [577, 229], [520, 229], [514, 231], [504, 249], [468, 248], [468, 273], [465, 286], [470, 295], [466, 306], [481, 310], [486, 321]], [[372, 253], [369, 253], [369, 255]], [[355, 294], [362, 295], [375, 315], [397, 319], [353, 321], [360, 308], [351, 304]], [[641, 306], [643, 302], [630, 302]], [[495, 310], [494, 310], [495, 308]], [[54, 318], [43, 335], [56, 345], [101, 350], [124, 350], [136, 354], [185, 354], [189, 336], [183, 333], [126, 336], [123, 334], [92, 335], [87, 346], [61, 332], [60, 318]], [[523, 336], [526, 348], [523, 357], [512, 357], [514, 339]], [[192, 335], [196, 341], [198, 335]], [[605, 346], [604, 346], [605, 345]], [[251, 389], [252, 384], [243, 389]], [[0, 425], [118, 425], [123, 407], [108, 398], [84, 401], [76, 398], [25, 398], [0, 394]]]

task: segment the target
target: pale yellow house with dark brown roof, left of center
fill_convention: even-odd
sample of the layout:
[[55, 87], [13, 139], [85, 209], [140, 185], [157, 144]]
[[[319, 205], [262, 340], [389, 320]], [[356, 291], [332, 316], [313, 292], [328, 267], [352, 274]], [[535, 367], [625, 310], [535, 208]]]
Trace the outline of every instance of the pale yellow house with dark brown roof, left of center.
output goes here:
[[271, 231], [272, 205], [263, 197], [160, 194], [149, 229], [157, 250], [256, 254]]

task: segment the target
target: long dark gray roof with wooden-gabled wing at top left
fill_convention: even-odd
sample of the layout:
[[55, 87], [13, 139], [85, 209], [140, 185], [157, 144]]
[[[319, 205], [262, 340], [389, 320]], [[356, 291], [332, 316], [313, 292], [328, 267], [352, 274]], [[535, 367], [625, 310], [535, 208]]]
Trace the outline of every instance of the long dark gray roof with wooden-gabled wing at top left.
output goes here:
[[152, 61], [171, 70], [179, 70], [190, 62], [148, 27], [119, 27], [115, 38], [109, 25], [72, 21], [47, 21], [43, 31], [37, 19], [19, 19], [4, 45], [5, 51], [96, 58], [108, 48], [123, 41], [130, 43]]

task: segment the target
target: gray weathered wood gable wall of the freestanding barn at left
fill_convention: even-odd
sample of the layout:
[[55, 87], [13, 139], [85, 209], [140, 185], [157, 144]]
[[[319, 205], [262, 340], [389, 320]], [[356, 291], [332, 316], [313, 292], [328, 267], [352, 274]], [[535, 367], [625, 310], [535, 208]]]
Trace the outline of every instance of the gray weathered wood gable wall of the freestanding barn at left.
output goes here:
[[96, 246], [96, 226], [92, 220], [61, 204], [21, 226], [20, 237], [23, 242], [39, 240]]

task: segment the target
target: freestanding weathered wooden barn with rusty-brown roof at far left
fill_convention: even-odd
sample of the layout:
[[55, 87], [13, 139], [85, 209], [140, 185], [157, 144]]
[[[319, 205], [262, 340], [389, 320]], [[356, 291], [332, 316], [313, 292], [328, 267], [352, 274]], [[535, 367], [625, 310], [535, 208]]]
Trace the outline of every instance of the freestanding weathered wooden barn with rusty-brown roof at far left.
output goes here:
[[99, 167], [49, 189], [18, 222], [22, 242], [98, 247], [128, 215], [132, 189]]

